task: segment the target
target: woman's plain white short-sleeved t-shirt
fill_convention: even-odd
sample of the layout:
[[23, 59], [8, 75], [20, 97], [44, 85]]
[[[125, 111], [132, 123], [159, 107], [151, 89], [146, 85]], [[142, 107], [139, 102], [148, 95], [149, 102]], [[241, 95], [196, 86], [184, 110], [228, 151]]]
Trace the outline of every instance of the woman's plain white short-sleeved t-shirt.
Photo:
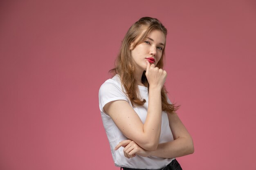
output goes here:
[[[142, 99], [146, 99], [146, 103], [143, 106], [133, 106], [132, 108], [139, 115], [139, 118], [144, 123], [147, 116], [148, 110], [148, 88], [144, 86], [138, 86], [139, 93]], [[126, 167], [126, 168], [139, 168], [139, 169], [158, 169], [163, 168], [168, 165], [175, 158], [160, 158], [160, 157], [141, 157], [136, 155], [130, 159], [124, 156], [124, 148], [120, 147], [115, 150], [115, 146], [119, 144], [120, 141], [128, 139], [122, 134], [119, 128], [116, 126], [114, 121], [109, 115], [107, 115], [103, 107], [108, 102], [115, 100], [125, 100], [130, 106], [132, 106], [129, 98], [122, 91], [121, 81], [118, 75], [115, 75], [111, 79], [104, 82], [99, 89], [99, 108], [101, 111], [101, 118], [103, 121], [103, 126], [106, 130], [108, 136], [108, 141], [110, 143], [110, 149], [112, 157], [115, 162], [115, 166]], [[170, 102], [168, 100], [168, 102]], [[169, 126], [168, 116], [165, 111], [162, 112], [162, 126], [161, 134], [159, 138], [159, 144], [173, 140], [173, 135]]]

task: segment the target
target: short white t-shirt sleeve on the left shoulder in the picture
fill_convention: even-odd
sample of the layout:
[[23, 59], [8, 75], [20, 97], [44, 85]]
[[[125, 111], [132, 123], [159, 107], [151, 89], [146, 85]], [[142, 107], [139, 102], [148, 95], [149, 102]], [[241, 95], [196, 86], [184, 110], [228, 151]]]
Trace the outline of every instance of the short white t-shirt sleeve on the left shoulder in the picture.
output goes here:
[[[122, 91], [121, 84], [112, 81], [106, 81], [99, 89], [99, 109], [105, 113], [103, 107], [115, 100], [125, 100], [128, 102], [126, 94]], [[105, 113], [106, 114], [106, 113]]]

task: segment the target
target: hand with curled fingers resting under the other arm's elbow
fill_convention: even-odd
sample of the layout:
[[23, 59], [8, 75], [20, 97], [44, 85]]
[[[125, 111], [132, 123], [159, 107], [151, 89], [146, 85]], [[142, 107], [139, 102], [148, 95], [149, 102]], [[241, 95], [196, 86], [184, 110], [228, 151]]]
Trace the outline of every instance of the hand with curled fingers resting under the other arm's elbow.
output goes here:
[[124, 147], [124, 156], [128, 159], [135, 157], [136, 155], [140, 155], [142, 157], [148, 157], [149, 152], [143, 148], [141, 148], [135, 141], [130, 139], [121, 141], [116, 147], [115, 150], [119, 149], [120, 147]]

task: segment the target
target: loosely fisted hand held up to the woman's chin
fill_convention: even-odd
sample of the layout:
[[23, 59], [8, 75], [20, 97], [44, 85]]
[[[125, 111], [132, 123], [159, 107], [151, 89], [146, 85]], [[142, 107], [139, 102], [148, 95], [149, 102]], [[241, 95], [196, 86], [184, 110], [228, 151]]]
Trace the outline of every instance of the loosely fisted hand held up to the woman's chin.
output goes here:
[[147, 62], [147, 69], [146, 69], [146, 77], [148, 79], [148, 83], [150, 86], [159, 86], [163, 87], [167, 73], [166, 71], [162, 70], [161, 68], [155, 67], [155, 64], [151, 64]]

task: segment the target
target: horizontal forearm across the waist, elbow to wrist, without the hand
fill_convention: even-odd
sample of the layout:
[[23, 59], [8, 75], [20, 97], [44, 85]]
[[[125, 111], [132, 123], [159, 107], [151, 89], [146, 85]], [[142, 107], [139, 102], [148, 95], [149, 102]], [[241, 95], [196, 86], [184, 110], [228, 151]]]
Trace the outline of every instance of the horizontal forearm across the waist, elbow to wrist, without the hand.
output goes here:
[[157, 150], [148, 152], [150, 156], [175, 158], [192, 154], [194, 152], [194, 146], [191, 138], [180, 137], [173, 141], [159, 144]]

